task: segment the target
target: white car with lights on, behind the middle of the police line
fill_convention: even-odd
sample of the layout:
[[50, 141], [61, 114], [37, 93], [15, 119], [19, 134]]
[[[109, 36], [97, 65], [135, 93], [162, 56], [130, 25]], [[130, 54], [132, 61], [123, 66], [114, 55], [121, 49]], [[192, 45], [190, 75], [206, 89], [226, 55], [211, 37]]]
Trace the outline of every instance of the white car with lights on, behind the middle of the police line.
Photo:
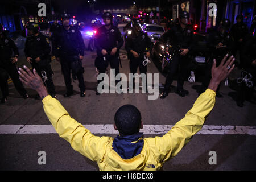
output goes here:
[[157, 24], [145, 24], [143, 29], [151, 39], [151, 42], [159, 40], [165, 32], [164, 27]]

